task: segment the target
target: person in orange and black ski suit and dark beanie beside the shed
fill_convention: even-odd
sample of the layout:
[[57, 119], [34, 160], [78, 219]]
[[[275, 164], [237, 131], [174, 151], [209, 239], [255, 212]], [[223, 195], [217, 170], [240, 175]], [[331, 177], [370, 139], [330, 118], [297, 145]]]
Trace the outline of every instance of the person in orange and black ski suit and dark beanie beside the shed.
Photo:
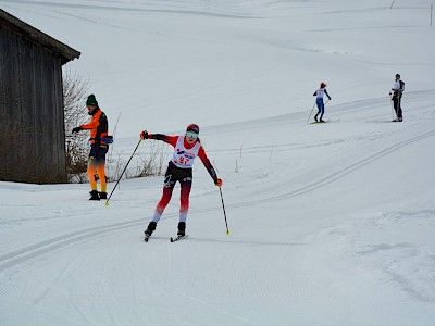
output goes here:
[[[94, 95], [90, 95], [86, 101], [86, 106], [88, 108], [88, 113], [92, 117], [88, 124], [75, 127], [73, 134], [80, 130], [90, 130], [90, 153], [88, 161], [88, 178], [90, 184], [90, 198], [89, 200], [100, 200], [107, 199], [107, 184], [105, 184], [105, 153], [108, 152], [109, 145], [107, 143], [108, 137], [108, 117], [104, 112], [98, 106], [97, 99]], [[104, 141], [105, 139], [105, 141]], [[97, 191], [97, 180], [96, 174], [100, 179], [101, 191]]]

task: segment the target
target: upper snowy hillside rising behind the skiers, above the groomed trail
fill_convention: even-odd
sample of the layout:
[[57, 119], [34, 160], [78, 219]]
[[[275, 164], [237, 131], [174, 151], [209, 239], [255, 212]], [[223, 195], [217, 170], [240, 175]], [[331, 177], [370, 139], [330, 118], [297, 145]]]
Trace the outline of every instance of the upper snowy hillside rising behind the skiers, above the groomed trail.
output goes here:
[[407, 90], [433, 89], [431, 1], [396, 2], [0, 5], [82, 51], [67, 66], [89, 80], [109, 117], [122, 112], [119, 136], [137, 136], [307, 111], [322, 80], [335, 104], [386, 96], [396, 72]]

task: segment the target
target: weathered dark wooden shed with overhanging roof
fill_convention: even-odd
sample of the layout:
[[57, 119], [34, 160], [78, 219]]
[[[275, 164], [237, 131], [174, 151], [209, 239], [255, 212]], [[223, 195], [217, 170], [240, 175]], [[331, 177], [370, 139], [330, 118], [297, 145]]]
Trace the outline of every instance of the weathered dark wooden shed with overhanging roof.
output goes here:
[[0, 180], [67, 180], [62, 65], [79, 55], [0, 10]]

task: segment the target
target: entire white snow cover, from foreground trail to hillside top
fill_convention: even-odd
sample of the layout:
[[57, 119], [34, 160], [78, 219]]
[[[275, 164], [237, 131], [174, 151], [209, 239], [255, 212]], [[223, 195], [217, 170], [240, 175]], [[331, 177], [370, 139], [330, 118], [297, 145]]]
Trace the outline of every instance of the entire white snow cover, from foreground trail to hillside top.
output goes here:
[[[2, 181], [0, 325], [433, 325], [435, 27], [391, 2], [0, 0], [82, 51], [126, 158], [198, 123], [231, 230], [200, 162], [177, 243], [178, 191], [142, 240], [162, 177], [109, 206]], [[320, 82], [331, 121], [308, 124]]]

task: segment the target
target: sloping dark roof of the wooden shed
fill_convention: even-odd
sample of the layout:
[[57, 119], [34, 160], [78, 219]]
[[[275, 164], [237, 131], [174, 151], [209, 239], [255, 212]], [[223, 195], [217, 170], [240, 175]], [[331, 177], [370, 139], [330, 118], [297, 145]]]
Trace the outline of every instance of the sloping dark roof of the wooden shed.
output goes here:
[[69, 61], [78, 59], [80, 57], [80, 52], [78, 52], [77, 50], [70, 48], [65, 43], [58, 41], [51, 36], [40, 32], [39, 29], [24, 23], [17, 17], [0, 9], [0, 27], [1, 26], [12, 29], [22, 37], [45, 48], [50, 53], [59, 53], [62, 58], [62, 64], [65, 64]]

